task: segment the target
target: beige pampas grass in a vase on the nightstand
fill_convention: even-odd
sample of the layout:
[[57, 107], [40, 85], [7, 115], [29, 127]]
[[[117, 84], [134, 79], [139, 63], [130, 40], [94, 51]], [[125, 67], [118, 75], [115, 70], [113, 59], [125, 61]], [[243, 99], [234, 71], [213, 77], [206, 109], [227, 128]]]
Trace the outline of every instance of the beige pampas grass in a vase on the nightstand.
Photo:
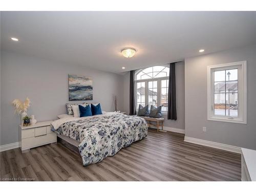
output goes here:
[[20, 115], [20, 124], [23, 125], [23, 118], [28, 115], [27, 111], [30, 106], [30, 100], [27, 97], [24, 102], [19, 99], [14, 99], [12, 105], [14, 107], [14, 113]]

